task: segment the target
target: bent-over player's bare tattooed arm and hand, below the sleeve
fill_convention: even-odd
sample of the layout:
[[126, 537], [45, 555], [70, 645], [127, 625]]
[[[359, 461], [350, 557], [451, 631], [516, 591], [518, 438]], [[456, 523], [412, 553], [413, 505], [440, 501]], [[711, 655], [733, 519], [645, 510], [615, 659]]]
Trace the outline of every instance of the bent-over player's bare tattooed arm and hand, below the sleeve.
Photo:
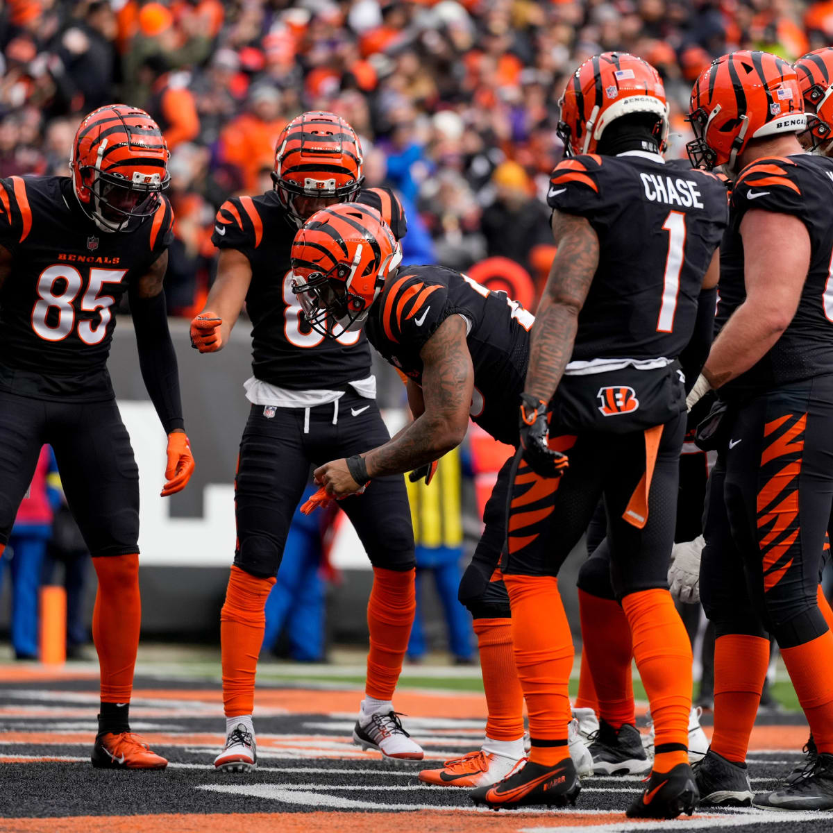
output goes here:
[[[412, 471], [451, 451], [466, 436], [474, 389], [466, 322], [458, 315], [447, 317], [422, 347], [420, 358], [425, 410], [392, 440], [362, 455], [368, 477]], [[337, 497], [364, 485], [352, 478], [345, 460], [317, 468], [315, 479]]]

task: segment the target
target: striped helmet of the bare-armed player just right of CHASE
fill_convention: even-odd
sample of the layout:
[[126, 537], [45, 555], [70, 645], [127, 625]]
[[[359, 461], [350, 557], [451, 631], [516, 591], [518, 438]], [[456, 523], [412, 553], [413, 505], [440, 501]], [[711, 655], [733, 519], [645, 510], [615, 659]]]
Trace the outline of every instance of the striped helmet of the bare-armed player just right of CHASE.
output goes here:
[[701, 72], [691, 90], [686, 145], [694, 167], [711, 171], [737, 157], [751, 139], [806, 129], [804, 99], [791, 64], [769, 52], [731, 52]]

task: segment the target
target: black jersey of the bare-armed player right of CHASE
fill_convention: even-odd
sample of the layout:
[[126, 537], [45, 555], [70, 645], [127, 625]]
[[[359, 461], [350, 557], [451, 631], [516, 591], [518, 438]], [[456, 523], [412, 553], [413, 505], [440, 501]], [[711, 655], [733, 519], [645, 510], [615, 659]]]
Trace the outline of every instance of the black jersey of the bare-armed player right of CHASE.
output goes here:
[[722, 399], [756, 395], [771, 387], [833, 373], [833, 159], [796, 154], [758, 159], [737, 178], [730, 224], [721, 247], [722, 327], [746, 298], [741, 221], [751, 208], [798, 217], [810, 234], [810, 269], [790, 326], [760, 362], [720, 389]]

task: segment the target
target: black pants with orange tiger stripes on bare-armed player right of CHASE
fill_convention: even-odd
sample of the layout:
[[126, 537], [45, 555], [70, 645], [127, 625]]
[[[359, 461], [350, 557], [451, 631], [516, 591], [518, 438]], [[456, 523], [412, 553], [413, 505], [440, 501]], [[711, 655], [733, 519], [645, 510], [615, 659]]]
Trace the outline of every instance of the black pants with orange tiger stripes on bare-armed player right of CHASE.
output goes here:
[[731, 419], [709, 483], [703, 606], [717, 636], [769, 631], [782, 648], [801, 645], [827, 630], [816, 587], [833, 505], [833, 377], [755, 397]]

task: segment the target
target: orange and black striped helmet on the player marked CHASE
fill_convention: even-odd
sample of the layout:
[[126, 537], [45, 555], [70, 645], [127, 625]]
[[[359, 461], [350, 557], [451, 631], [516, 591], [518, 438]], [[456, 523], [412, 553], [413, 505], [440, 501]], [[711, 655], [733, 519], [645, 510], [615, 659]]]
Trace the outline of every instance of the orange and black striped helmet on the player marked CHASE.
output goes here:
[[621, 116], [656, 116], [656, 143], [665, 150], [668, 102], [659, 72], [628, 52], [602, 52], [573, 72], [561, 100], [558, 135], [568, 156], [594, 153], [605, 128]]

